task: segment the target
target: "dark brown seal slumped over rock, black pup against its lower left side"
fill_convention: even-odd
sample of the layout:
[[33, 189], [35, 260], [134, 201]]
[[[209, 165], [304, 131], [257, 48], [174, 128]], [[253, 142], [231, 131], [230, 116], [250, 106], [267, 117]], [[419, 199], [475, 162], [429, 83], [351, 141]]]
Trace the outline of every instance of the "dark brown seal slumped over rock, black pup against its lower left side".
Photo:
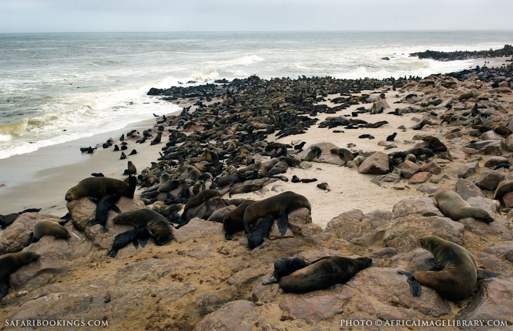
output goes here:
[[130, 224], [137, 228], [146, 228], [155, 240], [155, 244], [159, 246], [173, 239], [167, 219], [151, 209], [141, 208], [125, 211], [114, 217], [112, 222], [115, 224]]

